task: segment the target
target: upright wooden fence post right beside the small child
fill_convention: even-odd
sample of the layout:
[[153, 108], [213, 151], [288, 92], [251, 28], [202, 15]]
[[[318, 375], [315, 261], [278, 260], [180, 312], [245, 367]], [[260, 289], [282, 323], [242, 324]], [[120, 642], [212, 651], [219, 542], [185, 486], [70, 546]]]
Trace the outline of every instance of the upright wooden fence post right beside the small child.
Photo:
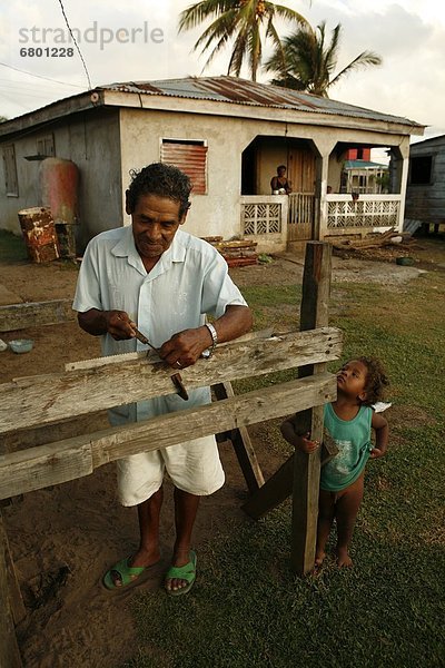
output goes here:
[[[332, 248], [323, 242], [306, 245], [300, 330], [314, 330], [328, 324]], [[298, 370], [305, 377], [326, 371], [326, 364], [310, 364]], [[324, 406], [315, 406], [299, 414], [300, 429], [310, 432], [313, 440], [323, 441]], [[290, 563], [294, 572], [304, 576], [315, 562], [317, 540], [320, 450], [314, 454], [296, 451], [294, 456], [294, 490]]]

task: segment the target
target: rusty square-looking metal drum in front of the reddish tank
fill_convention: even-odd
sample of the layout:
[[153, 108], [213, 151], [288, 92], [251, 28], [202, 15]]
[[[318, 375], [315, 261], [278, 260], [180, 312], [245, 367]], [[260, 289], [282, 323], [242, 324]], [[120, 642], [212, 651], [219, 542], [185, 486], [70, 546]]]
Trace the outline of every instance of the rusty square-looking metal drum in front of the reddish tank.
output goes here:
[[34, 206], [18, 213], [21, 232], [32, 262], [51, 262], [60, 257], [59, 242], [51, 209]]

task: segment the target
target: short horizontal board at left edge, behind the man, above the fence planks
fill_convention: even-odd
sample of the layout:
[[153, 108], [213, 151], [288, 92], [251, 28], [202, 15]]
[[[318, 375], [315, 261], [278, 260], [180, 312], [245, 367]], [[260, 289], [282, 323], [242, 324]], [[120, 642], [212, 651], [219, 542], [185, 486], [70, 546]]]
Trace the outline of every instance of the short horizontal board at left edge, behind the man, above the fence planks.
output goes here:
[[52, 299], [0, 306], [0, 332], [67, 323], [76, 318], [71, 305], [72, 299]]

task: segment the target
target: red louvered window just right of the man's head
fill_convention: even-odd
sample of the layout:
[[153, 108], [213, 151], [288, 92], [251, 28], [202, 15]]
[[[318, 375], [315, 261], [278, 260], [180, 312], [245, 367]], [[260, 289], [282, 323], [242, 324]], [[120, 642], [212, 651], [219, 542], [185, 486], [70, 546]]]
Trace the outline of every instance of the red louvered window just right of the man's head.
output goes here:
[[194, 195], [207, 193], [207, 146], [204, 141], [162, 139], [161, 163], [175, 165], [191, 180]]

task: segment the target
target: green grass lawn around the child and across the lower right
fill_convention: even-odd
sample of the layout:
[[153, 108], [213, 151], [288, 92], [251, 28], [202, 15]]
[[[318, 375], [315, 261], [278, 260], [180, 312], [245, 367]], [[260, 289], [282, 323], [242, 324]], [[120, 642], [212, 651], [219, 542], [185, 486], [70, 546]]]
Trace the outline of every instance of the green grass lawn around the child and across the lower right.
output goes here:
[[[244, 292], [258, 328], [295, 316], [294, 286]], [[444, 666], [444, 293], [445, 274], [433, 273], [397, 291], [333, 289], [344, 358], [376, 355], [392, 380], [390, 449], [367, 468], [355, 567], [329, 558], [319, 574], [294, 578], [290, 502], [259, 522], [228, 521], [199, 546], [190, 596], [136, 599], [139, 647], [128, 668]]]

